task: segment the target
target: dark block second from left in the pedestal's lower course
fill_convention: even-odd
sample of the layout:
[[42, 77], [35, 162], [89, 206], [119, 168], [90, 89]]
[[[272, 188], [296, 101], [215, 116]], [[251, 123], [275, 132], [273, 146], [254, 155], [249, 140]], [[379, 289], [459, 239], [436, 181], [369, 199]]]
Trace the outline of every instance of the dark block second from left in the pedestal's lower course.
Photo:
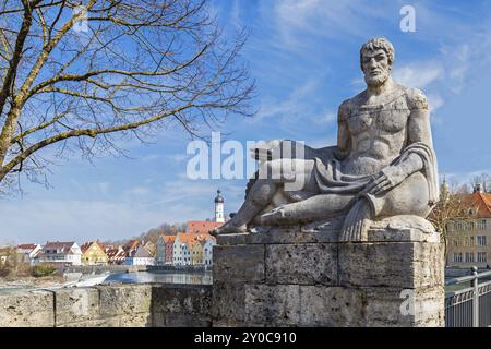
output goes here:
[[300, 323], [298, 285], [246, 285], [246, 323], [295, 326]]

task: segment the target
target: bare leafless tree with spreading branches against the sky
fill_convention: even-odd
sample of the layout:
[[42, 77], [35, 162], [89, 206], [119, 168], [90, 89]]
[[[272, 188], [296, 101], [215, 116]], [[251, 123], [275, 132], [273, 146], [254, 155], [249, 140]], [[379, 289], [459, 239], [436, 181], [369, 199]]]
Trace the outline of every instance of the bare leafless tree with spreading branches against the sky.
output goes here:
[[53, 155], [252, 115], [244, 39], [225, 39], [206, 0], [3, 0], [0, 189], [44, 181]]

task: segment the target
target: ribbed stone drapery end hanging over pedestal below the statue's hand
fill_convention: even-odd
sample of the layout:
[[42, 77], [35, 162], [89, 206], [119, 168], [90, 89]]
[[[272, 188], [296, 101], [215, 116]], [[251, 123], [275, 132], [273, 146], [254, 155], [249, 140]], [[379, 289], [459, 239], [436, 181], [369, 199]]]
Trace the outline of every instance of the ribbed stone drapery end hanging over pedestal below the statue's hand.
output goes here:
[[371, 207], [366, 200], [358, 201], [345, 218], [339, 236], [340, 242], [356, 242], [367, 240], [371, 225]]

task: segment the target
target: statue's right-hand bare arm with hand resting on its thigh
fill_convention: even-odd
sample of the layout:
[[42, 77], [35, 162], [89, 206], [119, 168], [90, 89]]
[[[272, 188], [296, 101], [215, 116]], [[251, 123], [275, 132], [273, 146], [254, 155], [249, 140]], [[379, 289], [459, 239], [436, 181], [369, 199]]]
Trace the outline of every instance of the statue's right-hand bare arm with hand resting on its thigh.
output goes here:
[[[433, 147], [431, 139], [430, 117], [428, 103], [423, 93], [411, 89], [407, 96], [408, 107], [411, 110], [407, 124], [407, 145], [416, 142], [426, 143]], [[423, 168], [423, 161], [417, 154], [410, 154], [396, 166], [387, 166], [378, 178], [364, 189], [366, 193], [382, 194], [400, 184], [407, 177]]]

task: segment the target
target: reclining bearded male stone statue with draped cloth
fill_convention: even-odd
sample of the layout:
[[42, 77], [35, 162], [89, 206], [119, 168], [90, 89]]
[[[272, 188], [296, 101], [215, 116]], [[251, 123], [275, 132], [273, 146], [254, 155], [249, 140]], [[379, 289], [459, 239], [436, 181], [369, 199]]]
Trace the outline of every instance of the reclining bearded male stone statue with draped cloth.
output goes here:
[[[439, 200], [428, 103], [421, 91], [392, 80], [393, 62], [387, 39], [367, 41], [360, 50], [367, 89], [339, 106], [337, 145], [306, 147], [302, 158], [263, 160], [260, 173], [280, 176], [251, 179], [239, 212], [212, 233], [343, 217], [339, 240], [361, 241], [374, 220], [427, 217]], [[283, 142], [268, 143], [266, 151]], [[285, 190], [299, 179], [300, 190]]]

